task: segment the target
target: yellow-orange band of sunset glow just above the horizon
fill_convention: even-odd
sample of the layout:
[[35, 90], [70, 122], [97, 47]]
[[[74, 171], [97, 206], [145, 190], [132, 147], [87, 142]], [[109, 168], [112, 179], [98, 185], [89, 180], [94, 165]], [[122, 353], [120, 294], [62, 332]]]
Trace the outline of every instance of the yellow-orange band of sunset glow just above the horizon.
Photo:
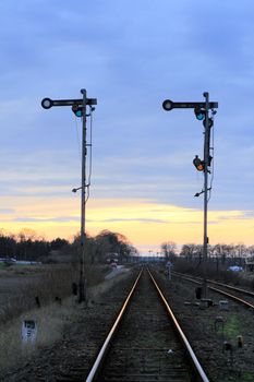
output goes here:
[[[4, 202], [10, 203], [10, 200], [5, 199]], [[29, 228], [48, 239], [62, 237], [71, 240], [80, 230], [78, 198], [27, 198], [22, 201], [12, 200], [12, 205], [14, 211], [7, 213], [2, 220], [2, 228], [8, 232]], [[254, 217], [249, 217], [244, 211], [208, 213], [210, 243], [252, 244], [253, 227]], [[94, 236], [102, 229], [125, 235], [140, 250], [146, 247], [147, 242], [152, 248], [159, 249], [165, 240], [172, 240], [178, 244], [201, 243], [203, 211], [149, 200], [89, 200], [86, 206], [86, 230]]]

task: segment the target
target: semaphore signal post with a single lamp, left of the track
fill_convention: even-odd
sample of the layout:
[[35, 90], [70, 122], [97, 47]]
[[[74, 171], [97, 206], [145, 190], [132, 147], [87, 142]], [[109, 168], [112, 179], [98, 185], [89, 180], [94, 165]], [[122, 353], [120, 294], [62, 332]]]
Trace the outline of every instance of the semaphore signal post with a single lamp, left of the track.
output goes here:
[[[73, 192], [81, 190], [81, 248], [80, 248], [80, 279], [78, 279], [78, 302], [86, 300], [86, 279], [85, 279], [85, 212], [86, 212], [86, 188], [89, 184], [86, 183], [86, 106], [90, 107], [90, 114], [94, 110], [93, 105], [97, 105], [96, 98], [87, 98], [86, 89], [81, 89], [83, 98], [81, 99], [50, 99], [44, 98], [41, 106], [45, 109], [50, 109], [52, 106], [71, 106], [72, 111], [76, 117], [82, 118], [82, 176], [81, 187], [73, 189]], [[90, 116], [90, 114], [88, 116]]]

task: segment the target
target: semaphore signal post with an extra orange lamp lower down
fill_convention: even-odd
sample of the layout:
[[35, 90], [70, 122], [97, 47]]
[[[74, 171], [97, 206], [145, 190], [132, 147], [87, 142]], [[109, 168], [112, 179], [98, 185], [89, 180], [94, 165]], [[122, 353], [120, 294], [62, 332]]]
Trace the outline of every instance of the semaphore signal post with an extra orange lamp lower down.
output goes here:
[[214, 126], [214, 119], [209, 117], [209, 112], [211, 110], [215, 114], [214, 109], [218, 108], [218, 103], [209, 102], [209, 93], [205, 92], [203, 94], [205, 97], [205, 102], [183, 102], [183, 103], [174, 103], [170, 99], [166, 99], [162, 103], [162, 108], [166, 111], [171, 111], [172, 109], [194, 109], [194, 114], [196, 119], [203, 121], [203, 126], [205, 128], [204, 132], [204, 159], [202, 160], [196, 155], [193, 164], [198, 171], [204, 172], [204, 190], [199, 193], [196, 193], [195, 196], [199, 196], [204, 193], [204, 238], [203, 238], [203, 259], [204, 259], [204, 284], [203, 284], [203, 296], [207, 295], [206, 287], [206, 268], [207, 268], [207, 248], [208, 248], [208, 236], [207, 236], [207, 205], [208, 205], [208, 174], [209, 166], [213, 157], [210, 156], [210, 129]]

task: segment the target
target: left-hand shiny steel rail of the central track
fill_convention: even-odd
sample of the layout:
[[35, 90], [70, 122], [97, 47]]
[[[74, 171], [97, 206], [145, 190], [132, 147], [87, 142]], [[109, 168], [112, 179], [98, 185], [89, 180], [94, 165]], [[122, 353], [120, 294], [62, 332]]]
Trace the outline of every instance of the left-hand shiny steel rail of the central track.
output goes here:
[[131, 299], [131, 297], [132, 297], [132, 295], [133, 295], [133, 293], [134, 293], [134, 290], [136, 288], [136, 285], [137, 285], [140, 278], [141, 278], [142, 272], [143, 272], [143, 268], [141, 270], [141, 272], [140, 272], [140, 274], [138, 274], [138, 276], [137, 276], [137, 278], [136, 278], [136, 280], [135, 280], [135, 283], [134, 283], [134, 285], [133, 285], [133, 287], [131, 289], [131, 291], [130, 291], [130, 294], [128, 295], [128, 297], [126, 297], [126, 299], [125, 299], [125, 301], [124, 301], [124, 303], [123, 303], [123, 306], [122, 306], [122, 308], [121, 308], [121, 310], [120, 310], [120, 312], [119, 312], [119, 314], [117, 317], [117, 320], [114, 321], [111, 330], [109, 331], [109, 334], [107, 335], [107, 338], [105, 339], [104, 345], [102, 345], [102, 347], [99, 350], [99, 354], [98, 354], [98, 356], [97, 356], [97, 358], [96, 358], [96, 360], [94, 362], [94, 366], [90, 369], [89, 374], [86, 378], [86, 382], [92, 382], [94, 380], [94, 378], [96, 377], [96, 374], [98, 373], [100, 365], [101, 365], [101, 360], [104, 359], [104, 357], [105, 357], [105, 355], [106, 355], [106, 353], [108, 350], [109, 344], [110, 344], [110, 342], [111, 342], [111, 339], [112, 339], [112, 337], [113, 337], [113, 335], [114, 335], [114, 333], [116, 333], [116, 331], [117, 331], [117, 329], [119, 326], [119, 323], [120, 323], [120, 321], [122, 319], [122, 315], [125, 312], [128, 303], [129, 303], [129, 301], [130, 301], [130, 299]]

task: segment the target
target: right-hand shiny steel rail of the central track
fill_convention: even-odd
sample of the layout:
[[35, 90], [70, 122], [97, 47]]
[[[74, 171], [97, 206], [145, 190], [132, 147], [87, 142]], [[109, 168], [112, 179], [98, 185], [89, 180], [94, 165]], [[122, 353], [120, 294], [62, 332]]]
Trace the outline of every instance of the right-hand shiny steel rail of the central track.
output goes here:
[[149, 275], [150, 275], [150, 277], [152, 277], [152, 279], [153, 279], [153, 283], [154, 283], [154, 285], [155, 285], [155, 287], [156, 287], [156, 289], [157, 289], [157, 291], [158, 291], [158, 294], [159, 294], [161, 300], [162, 300], [164, 303], [165, 303], [165, 307], [166, 307], [166, 309], [167, 309], [167, 311], [168, 311], [168, 313], [169, 313], [169, 315], [170, 315], [170, 318], [171, 318], [171, 320], [172, 320], [172, 322], [173, 322], [173, 324], [174, 324], [174, 326], [176, 326], [176, 329], [177, 329], [177, 331], [178, 331], [178, 334], [179, 334], [180, 337], [181, 337], [181, 341], [183, 342], [185, 348], [188, 349], [189, 356], [190, 356], [190, 358], [191, 358], [191, 360], [192, 360], [192, 362], [193, 362], [193, 365], [194, 365], [194, 367], [195, 367], [196, 372], [198, 373], [198, 377], [202, 379], [203, 382], [209, 382], [209, 380], [208, 380], [208, 378], [207, 378], [207, 375], [206, 375], [204, 369], [202, 368], [202, 366], [201, 366], [198, 359], [196, 358], [196, 355], [195, 355], [194, 350], [192, 349], [192, 347], [191, 347], [191, 345], [190, 345], [190, 343], [189, 343], [189, 341], [188, 341], [185, 334], [183, 333], [181, 326], [180, 326], [179, 323], [178, 323], [178, 320], [176, 319], [176, 317], [174, 317], [174, 314], [173, 314], [171, 308], [169, 307], [168, 301], [167, 301], [166, 298], [164, 297], [164, 295], [162, 295], [160, 288], [158, 287], [158, 285], [157, 285], [155, 278], [154, 278], [153, 275], [150, 274], [149, 270], [147, 270], [147, 271], [148, 271], [148, 273], [149, 273]]

